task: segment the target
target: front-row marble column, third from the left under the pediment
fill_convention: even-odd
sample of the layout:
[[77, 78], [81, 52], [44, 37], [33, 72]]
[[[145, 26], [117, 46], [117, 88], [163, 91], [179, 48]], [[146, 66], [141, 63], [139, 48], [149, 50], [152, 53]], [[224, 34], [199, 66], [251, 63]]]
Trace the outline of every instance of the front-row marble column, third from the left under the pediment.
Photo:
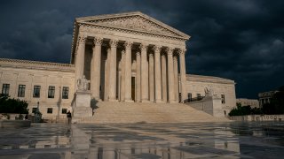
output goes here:
[[109, 64], [109, 101], [116, 101], [116, 49], [117, 40], [110, 41], [110, 64]]

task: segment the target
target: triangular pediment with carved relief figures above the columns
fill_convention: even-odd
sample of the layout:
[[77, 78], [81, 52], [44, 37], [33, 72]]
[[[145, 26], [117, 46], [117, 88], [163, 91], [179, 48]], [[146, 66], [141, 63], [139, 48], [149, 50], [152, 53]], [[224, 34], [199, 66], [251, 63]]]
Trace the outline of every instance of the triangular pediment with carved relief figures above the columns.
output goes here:
[[139, 11], [78, 18], [76, 19], [76, 22], [105, 27], [117, 27], [150, 34], [162, 34], [186, 40], [190, 37], [189, 35], [179, 32], [177, 29]]

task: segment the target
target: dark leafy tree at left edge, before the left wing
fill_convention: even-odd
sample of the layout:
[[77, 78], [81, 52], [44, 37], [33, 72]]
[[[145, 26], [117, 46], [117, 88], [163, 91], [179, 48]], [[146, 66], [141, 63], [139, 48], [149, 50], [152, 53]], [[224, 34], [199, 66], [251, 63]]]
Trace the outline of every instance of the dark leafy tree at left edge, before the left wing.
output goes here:
[[28, 102], [0, 94], [0, 113], [28, 114]]

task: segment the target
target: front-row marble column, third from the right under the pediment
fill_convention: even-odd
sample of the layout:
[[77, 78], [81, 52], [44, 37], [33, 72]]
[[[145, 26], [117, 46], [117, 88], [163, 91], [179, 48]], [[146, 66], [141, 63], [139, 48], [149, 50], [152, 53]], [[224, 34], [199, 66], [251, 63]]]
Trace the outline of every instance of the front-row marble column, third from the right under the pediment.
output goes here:
[[155, 102], [162, 102], [161, 46], [154, 46], [154, 95]]

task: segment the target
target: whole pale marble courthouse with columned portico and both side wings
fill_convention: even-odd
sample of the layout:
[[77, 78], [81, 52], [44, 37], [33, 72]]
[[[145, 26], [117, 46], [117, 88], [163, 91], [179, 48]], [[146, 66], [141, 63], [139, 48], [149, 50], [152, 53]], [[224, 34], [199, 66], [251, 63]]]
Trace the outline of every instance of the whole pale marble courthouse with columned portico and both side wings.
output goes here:
[[2, 58], [0, 88], [28, 101], [30, 112], [40, 103], [43, 117], [72, 109], [78, 79], [90, 80], [99, 102], [186, 102], [210, 87], [228, 112], [233, 80], [185, 73], [189, 38], [139, 11], [77, 18], [70, 64]]

